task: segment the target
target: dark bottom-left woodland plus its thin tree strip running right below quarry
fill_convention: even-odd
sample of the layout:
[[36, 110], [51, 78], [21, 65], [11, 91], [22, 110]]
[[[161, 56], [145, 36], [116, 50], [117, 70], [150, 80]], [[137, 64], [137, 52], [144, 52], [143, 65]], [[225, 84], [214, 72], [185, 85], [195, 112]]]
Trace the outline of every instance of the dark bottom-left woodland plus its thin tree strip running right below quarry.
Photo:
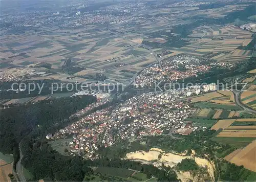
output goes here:
[[102, 157], [97, 160], [82, 160], [80, 156], [63, 156], [53, 150], [47, 142], [34, 139], [31, 133], [22, 141], [23, 160], [22, 164], [34, 176], [32, 180], [50, 178], [53, 181], [82, 181], [84, 176], [97, 175], [89, 166], [115, 167], [133, 169], [154, 176], [158, 181], [178, 181], [174, 172], [159, 169], [153, 165], [129, 160], [109, 160]]

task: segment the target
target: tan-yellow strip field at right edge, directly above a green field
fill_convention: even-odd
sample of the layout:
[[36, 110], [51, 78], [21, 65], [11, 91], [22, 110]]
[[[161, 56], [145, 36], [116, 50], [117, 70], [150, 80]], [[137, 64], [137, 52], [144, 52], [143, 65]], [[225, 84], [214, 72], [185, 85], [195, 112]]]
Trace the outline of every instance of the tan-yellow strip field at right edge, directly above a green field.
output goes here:
[[221, 131], [217, 137], [247, 137], [247, 138], [256, 138], [256, 130], [232, 130], [224, 129]]

